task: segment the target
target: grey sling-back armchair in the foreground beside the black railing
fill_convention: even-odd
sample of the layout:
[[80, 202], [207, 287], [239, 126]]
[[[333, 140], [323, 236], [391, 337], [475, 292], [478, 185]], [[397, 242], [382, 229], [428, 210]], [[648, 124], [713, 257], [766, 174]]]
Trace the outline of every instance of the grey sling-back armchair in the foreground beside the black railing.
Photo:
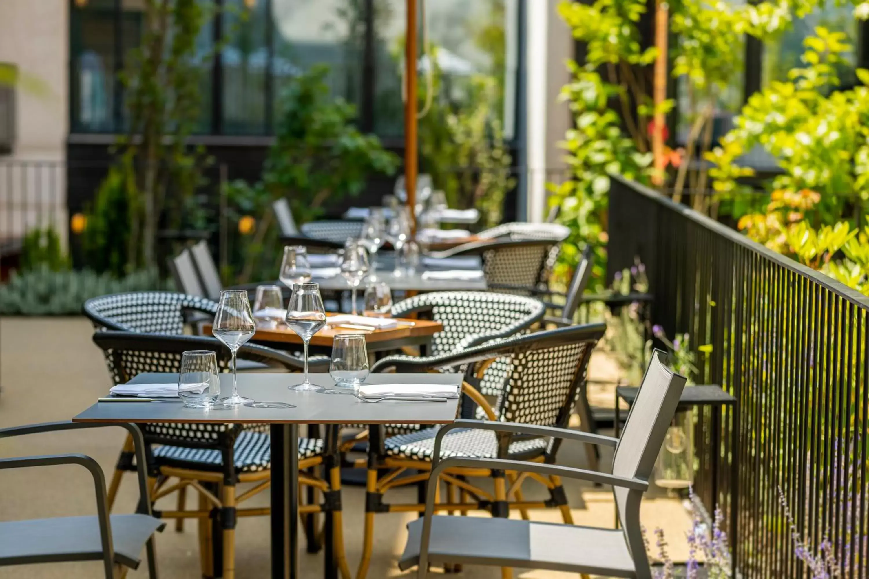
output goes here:
[[[620, 438], [563, 428], [476, 420], [457, 420], [442, 427], [434, 439], [425, 514], [408, 524], [408, 543], [399, 567], [406, 570], [419, 565], [419, 579], [424, 579], [430, 563], [497, 565], [505, 569], [503, 576], [511, 576], [509, 568], [522, 567], [651, 579], [652, 569], [640, 529], [640, 501], [685, 386], [685, 378], [670, 371], [665, 359], [664, 352], [653, 353]], [[450, 456], [441, 459], [444, 437], [460, 428], [564, 438], [614, 447], [613, 472], [606, 474], [507, 458]], [[433, 516], [438, 485], [432, 481], [437, 481], [445, 470], [461, 467], [512, 470], [612, 485], [621, 529], [504, 518]]]

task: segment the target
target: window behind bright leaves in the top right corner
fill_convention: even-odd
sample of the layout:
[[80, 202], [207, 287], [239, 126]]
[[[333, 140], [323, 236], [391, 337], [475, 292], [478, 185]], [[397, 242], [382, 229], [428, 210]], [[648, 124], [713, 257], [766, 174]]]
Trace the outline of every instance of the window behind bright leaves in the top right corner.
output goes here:
[[[793, 28], [786, 30], [775, 41], [764, 44], [763, 86], [767, 86], [771, 81], [786, 81], [788, 80], [788, 70], [804, 66], [799, 58], [806, 50], [803, 40], [808, 36], [814, 36], [814, 30], [817, 26], [845, 32], [846, 42], [856, 49], [858, 35], [857, 21], [853, 16], [853, 6], [851, 4], [835, 5], [828, 2], [804, 18], [795, 20]], [[841, 81], [839, 86], [840, 88], [849, 88], [854, 86], [854, 82], [856, 82], [854, 74], [856, 60], [853, 50], [844, 56], [847, 63], [838, 65], [839, 80]]]

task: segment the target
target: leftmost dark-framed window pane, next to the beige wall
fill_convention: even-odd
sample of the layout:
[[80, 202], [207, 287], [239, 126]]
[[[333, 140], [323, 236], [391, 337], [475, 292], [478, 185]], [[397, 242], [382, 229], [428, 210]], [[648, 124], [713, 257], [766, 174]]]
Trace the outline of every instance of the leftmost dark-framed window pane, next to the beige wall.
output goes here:
[[115, 106], [112, 0], [73, 5], [70, 18], [70, 122], [73, 132], [110, 133]]

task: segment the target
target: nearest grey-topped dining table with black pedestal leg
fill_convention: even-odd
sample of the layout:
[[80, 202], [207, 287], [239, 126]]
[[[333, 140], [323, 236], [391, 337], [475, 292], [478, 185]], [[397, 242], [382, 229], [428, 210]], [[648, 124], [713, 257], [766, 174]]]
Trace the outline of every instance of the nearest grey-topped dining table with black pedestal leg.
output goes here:
[[[144, 373], [130, 383], [169, 384], [176, 373]], [[222, 387], [229, 388], [229, 374], [221, 375]], [[335, 386], [328, 374], [311, 374], [311, 382], [324, 388]], [[97, 402], [73, 418], [90, 423], [268, 423], [271, 429], [271, 576], [298, 579], [299, 575], [299, 424], [447, 424], [454, 422], [458, 398], [446, 403], [383, 401], [365, 402], [351, 395], [330, 395], [318, 391], [292, 391], [289, 385], [301, 381], [298, 374], [239, 374], [238, 391], [258, 401], [282, 402], [295, 408], [252, 408], [230, 410], [185, 408], [180, 403]], [[461, 374], [371, 374], [366, 384], [461, 385]], [[327, 517], [329, 523], [330, 517]], [[328, 529], [327, 529], [328, 531]], [[331, 559], [331, 542], [326, 556]], [[327, 568], [329, 565], [327, 565]]]

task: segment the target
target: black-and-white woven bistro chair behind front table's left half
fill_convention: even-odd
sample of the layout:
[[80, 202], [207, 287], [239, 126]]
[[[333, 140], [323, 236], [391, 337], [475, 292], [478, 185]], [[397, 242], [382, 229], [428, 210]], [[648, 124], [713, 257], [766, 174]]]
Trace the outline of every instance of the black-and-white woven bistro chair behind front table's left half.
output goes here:
[[[182, 352], [211, 350], [216, 352], [217, 366], [229, 372], [230, 356], [217, 339], [202, 336], [164, 336], [135, 332], [96, 332], [94, 342], [103, 349], [109, 361], [109, 372], [116, 384], [122, 384], [143, 372], [180, 372]], [[256, 359], [263, 364], [289, 372], [301, 372], [302, 360], [260, 345], [245, 344], [239, 355]], [[322, 370], [322, 368], [321, 368]], [[163, 510], [159, 515], [176, 520], [196, 518], [199, 522], [202, 575], [215, 576], [212, 568], [212, 542], [209, 516], [213, 510], [219, 514], [216, 524], [222, 532], [224, 579], [235, 577], [235, 520], [238, 516], [268, 515], [269, 509], [239, 509], [238, 503], [254, 497], [269, 488], [271, 468], [271, 441], [268, 424], [251, 424], [242, 429], [240, 424], [143, 424], [145, 444], [148, 444], [148, 469], [151, 501], [178, 491], [177, 509]], [[323, 466], [327, 476], [316, 477], [302, 472]], [[303, 485], [321, 490], [330, 500], [322, 504], [306, 504], [300, 512], [306, 516], [327, 513], [333, 517], [334, 533], [327, 537], [335, 546], [335, 554], [342, 575], [349, 577], [342, 538], [340, 497], [340, 464], [337, 459], [335, 429], [328, 431], [326, 439], [299, 439], [299, 481]], [[116, 471], [116, 476], [121, 471]], [[170, 479], [177, 482], [169, 484]], [[255, 487], [236, 495], [237, 484], [254, 483]], [[109, 492], [116, 492], [109, 488]], [[192, 488], [198, 496], [196, 510], [185, 505], [184, 490]], [[315, 536], [308, 540], [316, 541]]]

